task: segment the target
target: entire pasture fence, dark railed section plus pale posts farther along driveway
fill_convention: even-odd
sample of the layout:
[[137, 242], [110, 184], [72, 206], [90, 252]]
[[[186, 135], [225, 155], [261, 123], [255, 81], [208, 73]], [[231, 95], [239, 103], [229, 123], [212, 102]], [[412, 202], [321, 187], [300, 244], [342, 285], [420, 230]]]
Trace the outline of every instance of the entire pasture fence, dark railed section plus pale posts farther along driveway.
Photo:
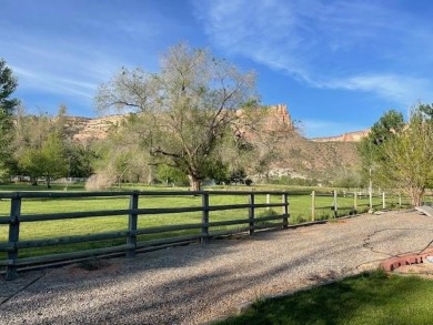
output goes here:
[[[430, 196], [429, 196], [430, 197]], [[427, 200], [433, 202], [433, 196]], [[0, 192], [0, 273], [410, 207], [359, 191]], [[87, 227], [88, 225], [88, 227]]]

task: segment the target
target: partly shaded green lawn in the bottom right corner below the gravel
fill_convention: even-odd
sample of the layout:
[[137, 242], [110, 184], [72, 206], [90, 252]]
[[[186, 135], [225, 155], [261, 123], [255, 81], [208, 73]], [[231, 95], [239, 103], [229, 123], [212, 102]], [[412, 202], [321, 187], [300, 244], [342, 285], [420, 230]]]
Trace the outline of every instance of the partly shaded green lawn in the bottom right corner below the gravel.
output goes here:
[[433, 324], [433, 281], [374, 272], [291, 296], [259, 301], [219, 325]]

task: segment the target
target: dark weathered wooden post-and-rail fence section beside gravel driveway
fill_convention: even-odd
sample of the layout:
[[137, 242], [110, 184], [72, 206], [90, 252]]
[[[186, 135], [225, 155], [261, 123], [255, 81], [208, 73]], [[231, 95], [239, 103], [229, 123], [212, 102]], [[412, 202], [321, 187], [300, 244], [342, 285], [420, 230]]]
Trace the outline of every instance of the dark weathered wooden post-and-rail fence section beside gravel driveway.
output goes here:
[[[281, 201], [278, 203], [256, 203], [258, 195], [265, 196], [278, 195], [281, 196]], [[201, 197], [201, 204], [199, 206], [180, 206], [180, 207], [140, 207], [140, 197], [157, 197], [157, 196], [199, 196]], [[230, 205], [211, 205], [210, 197], [213, 195], [239, 195], [248, 197], [248, 203], [244, 204], [230, 204]], [[70, 199], [79, 200], [83, 197], [128, 197], [129, 206], [121, 210], [97, 210], [97, 211], [67, 211], [62, 213], [22, 213], [23, 205], [29, 201], [37, 201], [38, 204], [43, 204], [44, 200], [59, 200]], [[253, 234], [255, 230], [269, 228], [269, 227], [282, 227], [286, 228], [289, 225], [289, 202], [286, 192], [239, 192], [239, 191], [200, 191], [200, 192], [13, 192], [13, 193], [0, 193], [1, 200], [10, 201], [10, 214], [0, 215], [0, 226], [8, 227], [7, 241], [0, 242], [0, 266], [6, 268], [6, 278], [11, 280], [17, 277], [19, 268], [36, 267], [38, 265], [67, 263], [68, 261], [82, 261], [94, 256], [121, 256], [127, 255], [133, 257], [137, 252], [151, 251], [161, 247], [168, 247], [170, 245], [187, 243], [191, 241], [201, 241], [207, 243], [211, 237], [230, 235], [240, 232], [249, 232]], [[111, 200], [111, 199], [110, 199]], [[269, 207], [282, 207], [281, 214], [265, 215], [258, 217], [258, 209]], [[223, 212], [228, 210], [244, 210], [248, 217], [245, 219], [231, 219], [212, 221], [210, 217], [211, 212]], [[188, 224], [169, 224], [164, 226], [152, 227], [139, 227], [139, 220], [149, 215], [159, 214], [179, 214], [195, 212], [201, 214], [201, 222], [188, 223]], [[105, 216], [124, 216], [128, 220], [127, 230], [118, 230], [114, 232], [90, 233], [85, 235], [68, 235], [61, 237], [50, 238], [23, 238], [20, 240], [20, 226], [26, 223], [34, 222], [49, 222], [59, 220], [75, 220], [75, 219], [91, 219], [91, 217], [105, 217]], [[213, 216], [213, 214], [212, 214]], [[238, 227], [229, 228], [225, 231], [213, 231], [221, 226], [238, 225]], [[239, 227], [239, 225], [244, 225]], [[195, 230], [193, 234], [181, 234], [179, 231]], [[1, 231], [1, 228], [0, 228]], [[170, 232], [175, 232], [173, 236]], [[149, 234], [162, 234], [169, 233], [169, 237], [148, 238], [143, 235]], [[0, 234], [1, 235], [1, 234]], [[4, 236], [6, 237], [6, 236]], [[0, 236], [1, 238], [1, 236]], [[73, 252], [62, 252], [56, 254], [44, 254], [20, 257], [20, 250], [39, 248], [47, 246], [59, 245], [73, 245], [78, 243], [101, 242], [121, 240], [123, 243], [115, 245], [109, 245], [91, 250], [79, 250]]]

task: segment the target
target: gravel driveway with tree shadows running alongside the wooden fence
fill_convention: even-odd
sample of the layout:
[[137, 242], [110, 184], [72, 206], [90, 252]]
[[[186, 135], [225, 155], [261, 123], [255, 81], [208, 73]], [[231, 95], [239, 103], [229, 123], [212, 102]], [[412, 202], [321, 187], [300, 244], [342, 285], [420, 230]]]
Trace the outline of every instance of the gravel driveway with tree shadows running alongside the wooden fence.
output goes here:
[[433, 219], [389, 212], [108, 260], [97, 271], [20, 273], [0, 281], [0, 323], [205, 324], [246, 302], [421, 252], [432, 240]]

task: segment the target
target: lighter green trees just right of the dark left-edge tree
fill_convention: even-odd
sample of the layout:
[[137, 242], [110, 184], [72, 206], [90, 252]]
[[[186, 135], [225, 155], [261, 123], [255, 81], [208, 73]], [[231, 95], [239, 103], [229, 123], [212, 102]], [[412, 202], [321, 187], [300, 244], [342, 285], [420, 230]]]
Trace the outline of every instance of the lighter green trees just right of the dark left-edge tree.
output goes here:
[[95, 146], [71, 141], [66, 120], [64, 106], [57, 115], [27, 114], [18, 106], [3, 174], [29, 177], [33, 185], [43, 177], [48, 187], [52, 179], [90, 176], [98, 158]]

